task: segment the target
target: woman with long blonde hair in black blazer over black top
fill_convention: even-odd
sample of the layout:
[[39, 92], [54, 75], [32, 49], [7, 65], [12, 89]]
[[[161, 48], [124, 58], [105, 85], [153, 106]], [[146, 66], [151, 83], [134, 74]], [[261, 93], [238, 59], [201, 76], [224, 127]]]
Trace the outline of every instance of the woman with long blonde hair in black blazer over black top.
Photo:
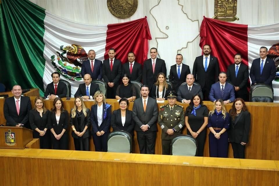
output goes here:
[[90, 110], [85, 107], [80, 96], [75, 98], [74, 108], [71, 110], [70, 125], [76, 151], [89, 151]]

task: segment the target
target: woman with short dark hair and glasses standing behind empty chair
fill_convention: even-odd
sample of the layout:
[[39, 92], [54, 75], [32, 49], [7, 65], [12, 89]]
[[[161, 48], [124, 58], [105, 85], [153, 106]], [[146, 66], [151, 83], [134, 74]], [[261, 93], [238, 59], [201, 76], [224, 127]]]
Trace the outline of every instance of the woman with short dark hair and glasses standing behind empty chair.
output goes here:
[[110, 124], [113, 131], [125, 130], [134, 135], [135, 121], [132, 118], [132, 111], [128, 110], [129, 101], [127, 98], [121, 98], [119, 101], [120, 108], [114, 110], [111, 115]]

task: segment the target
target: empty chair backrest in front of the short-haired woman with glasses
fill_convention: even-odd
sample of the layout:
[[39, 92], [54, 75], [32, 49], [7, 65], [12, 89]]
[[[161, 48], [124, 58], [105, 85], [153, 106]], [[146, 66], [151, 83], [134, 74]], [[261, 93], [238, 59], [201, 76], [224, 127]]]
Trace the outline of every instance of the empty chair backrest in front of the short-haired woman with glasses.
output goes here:
[[108, 135], [108, 152], [132, 152], [132, 136], [124, 130], [115, 130]]

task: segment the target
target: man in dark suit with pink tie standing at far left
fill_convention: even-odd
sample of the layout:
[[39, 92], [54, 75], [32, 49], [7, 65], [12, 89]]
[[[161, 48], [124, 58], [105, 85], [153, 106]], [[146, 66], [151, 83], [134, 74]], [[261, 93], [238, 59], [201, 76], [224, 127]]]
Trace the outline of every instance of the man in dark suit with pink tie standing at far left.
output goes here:
[[4, 102], [4, 117], [6, 126], [26, 127], [29, 126], [29, 110], [31, 110], [31, 102], [29, 97], [21, 96], [22, 89], [19, 85], [12, 87], [13, 97], [5, 99]]

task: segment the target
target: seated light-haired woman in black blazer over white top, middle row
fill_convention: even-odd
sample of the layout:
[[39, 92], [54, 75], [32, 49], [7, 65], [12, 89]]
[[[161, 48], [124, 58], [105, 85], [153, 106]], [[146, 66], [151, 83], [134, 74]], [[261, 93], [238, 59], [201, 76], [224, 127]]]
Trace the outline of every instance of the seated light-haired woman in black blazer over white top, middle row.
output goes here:
[[167, 99], [167, 92], [171, 89], [171, 86], [167, 84], [166, 75], [160, 72], [157, 75], [157, 82], [152, 85], [151, 97], [158, 101], [164, 101]]

